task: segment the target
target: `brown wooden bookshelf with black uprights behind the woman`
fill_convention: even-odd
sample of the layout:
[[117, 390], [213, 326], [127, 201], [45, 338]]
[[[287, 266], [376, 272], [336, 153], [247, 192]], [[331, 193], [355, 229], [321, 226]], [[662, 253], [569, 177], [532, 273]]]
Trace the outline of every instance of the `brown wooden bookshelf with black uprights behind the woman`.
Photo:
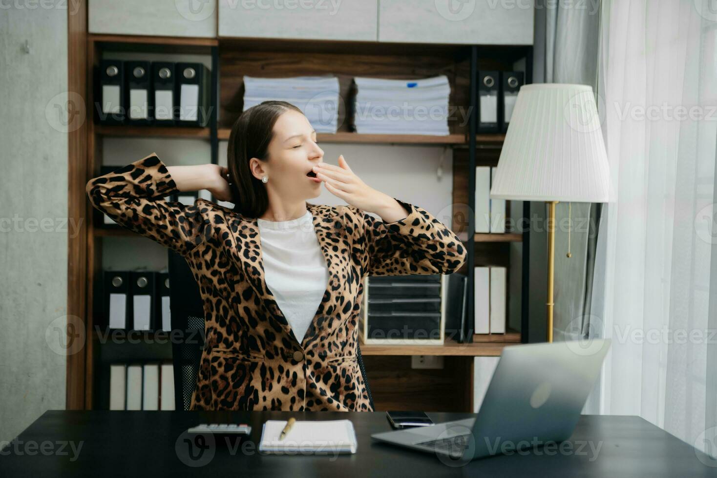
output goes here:
[[[453, 152], [453, 203], [472, 205], [475, 165], [496, 165], [503, 134], [475, 132], [475, 77], [477, 69], [512, 70], [524, 60], [526, 82], [530, 82], [532, 47], [457, 44], [400, 44], [379, 42], [346, 42], [283, 39], [188, 38], [171, 36], [135, 36], [87, 34], [86, 61], [82, 65], [86, 82], [87, 121], [83, 126], [85, 144], [75, 145], [86, 155], [84, 164], [72, 164], [70, 175], [84, 195], [87, 180], [99, 174], [103, 163], [105, 137], [181, 138], [209, 142], [211, 157], [202, 162], [218, 162], [219, 142], [228, 140], [235, 119], [242, 112], [242, 76], [287, 77], [294, 75], [334, 74], [339, 79], [340, 96], [346, 102], [339, 109], [339, 128], [334, 135], [319, 134], [318, 142], [366, 145], [445, 145]], [[171, 53], [202, 55], [212, 65], [212, 118], [208, 127], [136, 127], [95, 124], [92, 117], [94, 99], [93, 72], [105, 52]], [[350, 85], [355, 76], [384, 78], [430, 77], [446, 74], [451, 83], [450, 106], [464, 108], [470, 121], [460, 115], [449, 119], [450, 135], [359, 135], [349, 128], [348, 107], [353, 99]], [[72, 148], [72, 146], [71, 146]], [[70, 151], [72, 155], [72, 149]], [[129, 160], [128, 160], [129, 162]], [[84, 260], [70, 260], [69, 277], [85, 284], [84, 297], [70, 296], [70, 310], [83, 311], [87, 343], [84, 363], [68, 364], [68, 409], [103, 409], [106, 404], [103, 385], [106, 382], [104, 358], [155, 353], [166, 358], [166, 349], [142, 348], [129, 344], [102, 343], [102, 333], [95, 330], [95, 319], [101, 313], [100, 285], [102, 249], [105, 238], [139, 238], [123, 228], [95, 225], [94, 210], [77, 197], [70, 203], [71, 212], [84, 215], [87, 224]], [[469, 316], [473, 323], [473, 265], [509, 264], [511, 244], [523, 244], [523, 264], [527, 265], [527, 233], [474, 234], [473, 218], [457, 220], [454, 209], [450, 227], [464, 238], [468, 251], [466, 265], [460, 270], [469, 277]], [[526, 267], [523, 270], [527, 270]], [[366, 370], [377, 409], [426, 409], [473, 411], [473, 358], [499, 356], [503, 347], [525, 341], [527, 337], [526, 276], [523, 274], [523, 311], [521, 331], [508, 328], [505, 334], [475, 335], [468, 343], [447, 339], [440, 346], [362, 345]], [[71, 282], [72, 283], [72, 282]], [[470, 326], [472, 328], [472, 325]], [[125, 351], [125, 352], [123, 352]], [[139, 351], [139, 352], [137, 352]], [[444, 369], [411, 369], [412, 355], [434, 355], [445, 358]], [[104, 358], [103, 358], [104, 357]], [[100, 359], [102, 358], [102, 359]], [[79, 362], [79, 361], [78, 361]], [[447, 400], [447, 396], [450, 400]], [[447, 402], [450, 401], [450, 404]]]

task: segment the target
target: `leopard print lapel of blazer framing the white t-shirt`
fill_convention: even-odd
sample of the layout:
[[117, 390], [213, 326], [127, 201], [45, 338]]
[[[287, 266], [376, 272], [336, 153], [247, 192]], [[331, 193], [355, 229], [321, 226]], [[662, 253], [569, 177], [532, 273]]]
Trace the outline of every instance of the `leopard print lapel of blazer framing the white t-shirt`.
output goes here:
[[[319, 320], [321, 315], [319, 311], [323, 308], [323, 303], [329, 301], [331, 295], [336, 293], [336, 290], [341, 286], [339, 283], [341, 263], [339, 260], [336, 260], [336, 257], [332, 257], [331, 250], [333, 248], [332, 239], [334, 235], [339, 232], [334, 231], [336, 228], [333, 220], [334, 209], [312, 204], [307, 204], [307, 209], [312, 215], [316, 238], [323, 253], [323, 258], [326, 260], [328, 266], [328, 283], [326, 285], [326, 291], [321, 298], [321, 303], [313, 316], [312, 323], [301, 342], [302, 346], [308, 343], [310, 338], [318, 333], [321, 322]], [[264, 303], [271, 318], [279, 323], [292, 341], [299, 343], [298, 338], [296, 338], [294, 331], [279, 308], [274, 295], [267, 287], [264, 262], [262, 260], [261, 238], [256, 218], [246, 218], [243, 215], [237, 214], [228, 222], [234, 235], [232, 257], [234, 257], [234, 260], [241, 266], [244, 271], [244, 276], [262, 303]]]

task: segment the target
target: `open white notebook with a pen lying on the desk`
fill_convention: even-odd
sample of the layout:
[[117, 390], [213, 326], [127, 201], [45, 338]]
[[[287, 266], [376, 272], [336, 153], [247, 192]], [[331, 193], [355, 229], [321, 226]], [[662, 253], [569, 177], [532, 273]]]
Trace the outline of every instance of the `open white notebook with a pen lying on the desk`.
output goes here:
[[260, 452], [356, 453], [356, 433], [351, 420], [296, 421], [279, 440], [286, 420], [267, 420], [262, 427]]

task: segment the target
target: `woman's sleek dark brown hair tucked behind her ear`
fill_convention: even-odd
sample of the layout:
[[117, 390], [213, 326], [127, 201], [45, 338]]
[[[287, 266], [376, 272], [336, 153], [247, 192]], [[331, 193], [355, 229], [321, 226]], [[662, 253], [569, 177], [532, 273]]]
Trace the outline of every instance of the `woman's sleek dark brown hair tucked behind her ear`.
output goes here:
[[269, 207], [267, 190], [257, 180], [249, 167], [249, 160], [256, 157], [268, 161], [267, 148], [274, 136], [274, 124], [283, 112], [293, 109], [303, 112], [284, 101], [265, 101], [242, 112], [229, 133], [227, 167], [232, 181], [234, 212], [247, 218], [258, 218]]

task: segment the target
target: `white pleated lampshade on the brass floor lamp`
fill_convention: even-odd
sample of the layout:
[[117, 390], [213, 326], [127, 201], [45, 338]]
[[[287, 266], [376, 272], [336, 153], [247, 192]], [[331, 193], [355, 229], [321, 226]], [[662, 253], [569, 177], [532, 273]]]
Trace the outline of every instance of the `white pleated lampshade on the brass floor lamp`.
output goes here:
[[523, 86], [490, 197], [607, 203], [608, 195], [607, 153], [592, 87]]

